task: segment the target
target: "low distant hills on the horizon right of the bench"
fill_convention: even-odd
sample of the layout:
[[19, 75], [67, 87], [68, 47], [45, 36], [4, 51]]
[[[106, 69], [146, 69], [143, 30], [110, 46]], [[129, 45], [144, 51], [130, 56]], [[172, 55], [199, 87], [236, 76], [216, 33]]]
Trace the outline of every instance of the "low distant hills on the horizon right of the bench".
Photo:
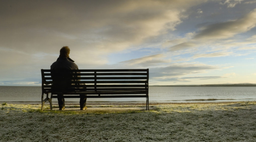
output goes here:
[[204, 84], [204, 85], [152, 85], [152, 86], [237, 86], [237, 87], [243, 87], [243, 86], [256, 86], [256, 84], [252, 83], [237, 83], [237, 84]]

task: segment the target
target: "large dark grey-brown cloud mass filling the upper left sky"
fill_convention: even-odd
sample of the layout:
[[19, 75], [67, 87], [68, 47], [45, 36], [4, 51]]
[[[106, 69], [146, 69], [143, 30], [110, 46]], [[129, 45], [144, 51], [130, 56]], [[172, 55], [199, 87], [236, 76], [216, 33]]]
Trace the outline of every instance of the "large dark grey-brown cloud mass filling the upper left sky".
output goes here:
[[102, 65], [108, 63], [108, 53], [140, 48], [146, 39], [176, 30], [183, 10], [202, 2], [4, 1], [0, 43], [45, 55], [69, 46], [77, 63]]

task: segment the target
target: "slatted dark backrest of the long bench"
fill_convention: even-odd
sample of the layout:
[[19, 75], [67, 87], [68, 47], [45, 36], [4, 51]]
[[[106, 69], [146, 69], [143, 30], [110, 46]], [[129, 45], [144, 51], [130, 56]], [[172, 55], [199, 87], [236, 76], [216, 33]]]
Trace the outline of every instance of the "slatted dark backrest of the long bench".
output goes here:
[[[42, 92], [52, 92], [52, 84], [65, 84], [69, 91], [147, 91], [149, 69], [70, 70], [71, 79], [54, 80], [54, 70], [41, 69]], [[56, 74], [56, 73], [55, 73]], [[68, 84], [68, 85], [67, 85]], [[86, 85], [84, 85], [86, 84]], [[86, 88], [84, 88], [86, 86]], [[67, 90], [65, 90], [67, 91]], [[148, 94], [148, 93], [147, 93]]]

